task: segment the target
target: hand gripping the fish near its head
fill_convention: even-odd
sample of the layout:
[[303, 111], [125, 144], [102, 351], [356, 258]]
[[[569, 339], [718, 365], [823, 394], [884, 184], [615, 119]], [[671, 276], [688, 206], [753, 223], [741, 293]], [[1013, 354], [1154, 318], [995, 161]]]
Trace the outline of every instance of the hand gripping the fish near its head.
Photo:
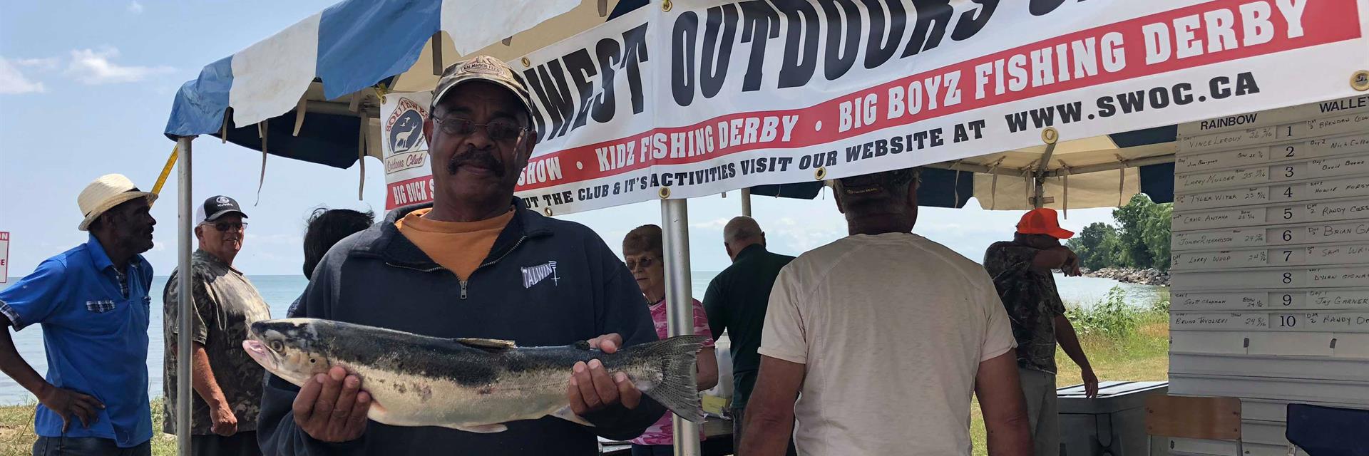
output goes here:
[[346, 442], [361, 438], [366, 414], [371, 409], [371, 394], [361, 390], [361, 379], [346, 370], [333, 367], [327, 374], [304, 382], [294, 396], [294, 423], [304, 433], [324, 442]]

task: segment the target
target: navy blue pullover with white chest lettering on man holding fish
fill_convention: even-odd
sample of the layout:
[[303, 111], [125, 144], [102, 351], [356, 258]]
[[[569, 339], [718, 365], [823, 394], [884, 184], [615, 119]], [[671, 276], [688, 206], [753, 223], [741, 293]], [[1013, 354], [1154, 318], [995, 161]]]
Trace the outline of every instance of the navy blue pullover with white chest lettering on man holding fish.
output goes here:
[[[570, 345], [608, 333], [622, 334], [624, 345], [657, 340], [637, 282], [598, 234], [542, 216], [520, 200], [515, 205], [517, 214], [464, 282], [394, 227], [428, 205], [394, 210], [324, 255], [290, 316], [444, 338], [512, 340], [520, 346]], [[264, 388], [257, 438], [266, 455], [597, 455], [596, 434], [634, 438], [665, 411], [643, 396], [635, 409], [619, 405], [586, 415], [596, 427], [548, 416], [511, 422], [507, 431], [491, 434], [370, 422], [360, 440], [327, 444], [296, 426], [292, 403], [298, 388], [274, 375]]]

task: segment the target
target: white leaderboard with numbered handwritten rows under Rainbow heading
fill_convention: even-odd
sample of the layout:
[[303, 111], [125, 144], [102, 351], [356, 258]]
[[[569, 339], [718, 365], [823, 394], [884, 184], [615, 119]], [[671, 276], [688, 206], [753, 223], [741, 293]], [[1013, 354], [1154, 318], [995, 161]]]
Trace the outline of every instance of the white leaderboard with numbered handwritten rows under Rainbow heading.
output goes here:
[[1179, 130], [1170, 329], [1369, 333], [1369, 96], [1239, 118]]

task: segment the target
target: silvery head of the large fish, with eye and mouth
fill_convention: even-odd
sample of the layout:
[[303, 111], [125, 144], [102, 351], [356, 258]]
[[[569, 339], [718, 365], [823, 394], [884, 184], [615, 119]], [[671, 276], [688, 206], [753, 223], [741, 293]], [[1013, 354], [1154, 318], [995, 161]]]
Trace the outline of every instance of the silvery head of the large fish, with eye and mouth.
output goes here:
[[251, 326], [242, 349], [257, 364], [294, 385], [304, 385], [333, 366], [314, 319], [287, 318], [260, 320]]

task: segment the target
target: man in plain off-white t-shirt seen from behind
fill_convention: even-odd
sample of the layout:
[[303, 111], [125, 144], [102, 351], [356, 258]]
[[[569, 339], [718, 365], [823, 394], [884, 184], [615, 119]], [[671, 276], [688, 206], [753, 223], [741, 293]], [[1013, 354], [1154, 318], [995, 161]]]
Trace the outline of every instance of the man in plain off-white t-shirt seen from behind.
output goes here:
[[1012, 329], [994, 282], [912, 234], [917, 170], [836, 182], [850, 236], [771, 290], [738, 455], [969, 455], [979, 397], [993, 456], [1031, 455]]

